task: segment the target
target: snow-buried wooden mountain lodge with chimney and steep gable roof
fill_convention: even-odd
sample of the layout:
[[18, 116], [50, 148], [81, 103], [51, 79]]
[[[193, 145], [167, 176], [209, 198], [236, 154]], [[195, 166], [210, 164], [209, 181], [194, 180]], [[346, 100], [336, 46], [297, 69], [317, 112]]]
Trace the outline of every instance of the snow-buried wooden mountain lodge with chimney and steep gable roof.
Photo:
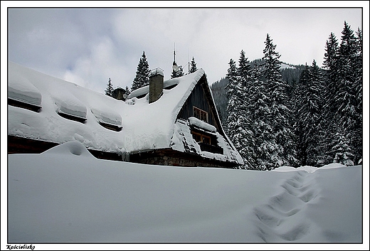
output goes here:
[[234, 167], [243, 159], [223, 131], [204, 70], [115, 100], [9, 62], [8, 152], [41, 153], [80, 141], [100, 159], [171, 166]]

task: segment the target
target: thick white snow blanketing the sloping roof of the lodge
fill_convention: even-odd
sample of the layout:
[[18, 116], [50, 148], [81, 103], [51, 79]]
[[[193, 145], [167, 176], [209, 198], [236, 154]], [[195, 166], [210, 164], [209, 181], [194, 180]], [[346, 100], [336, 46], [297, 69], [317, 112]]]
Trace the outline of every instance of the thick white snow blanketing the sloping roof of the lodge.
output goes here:
[[[149, 104], [148, 94], [142, 98], [131, 95], [132, 98], [122, 102], [72, 82], [9, 62], [9, 90], [18, 90], [9, 91], [9, 98], [11, 93], [14, 96], [21, 94], [23, 89], [34, 87], [29, 97], [23, 95], [23, 100], [33, 102], [39, 93], [41, 97], [37, 96], [36, 101], [41, 102], [42, 109], [40, 112], [33, 112], [9, 105], [8, 134], [56, 143], [77, 140], [88, 149], [121, 154], [169, 148], [173, 144], [171, 139], [176, 137], [176, 116], [203, 75], [204, 70], [199, 69], [184, 77], [164, 81], [164, 87], [175, 87], [171, 90], [164, 89], [162, 97]], [[144, 92], [146, 89], [149, 91], [149, 87], [137, 91]], [[86, 120], [77, 122], [61, 117], [61, 114]], [[122, 129], [119, 132], [112, 131], [102, 127], [100, 123]], [[232, 145], [229, 148], [235, 151]], [[225, 154], [229, 152], [226, 151]], [[243, 163], [236, 151], [233, 152], [233, 158], [226, 159]]]

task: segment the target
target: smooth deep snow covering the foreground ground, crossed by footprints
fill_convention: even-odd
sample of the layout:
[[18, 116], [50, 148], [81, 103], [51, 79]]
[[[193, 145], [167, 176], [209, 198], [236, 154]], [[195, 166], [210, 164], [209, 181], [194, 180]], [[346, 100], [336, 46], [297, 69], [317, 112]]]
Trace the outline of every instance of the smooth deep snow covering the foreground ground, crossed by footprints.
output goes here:
[[345, 242], [339, 249], [359, 250], [368, 240], [361, 166], [149, 166], [95, 159], [78, 141], [8, 161], [13, 243]]

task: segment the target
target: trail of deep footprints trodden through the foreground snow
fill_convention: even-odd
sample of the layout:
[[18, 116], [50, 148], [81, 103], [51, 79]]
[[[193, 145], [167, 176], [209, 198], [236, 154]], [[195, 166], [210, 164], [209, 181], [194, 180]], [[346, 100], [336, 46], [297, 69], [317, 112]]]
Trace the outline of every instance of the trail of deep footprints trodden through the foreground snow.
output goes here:
[[297, 171], [281, 187], [281, 193], [253, 209], [257, 235], [265, 242], [300, 241], [310, 231], [302, 214], [319, 196], [313, 173]]

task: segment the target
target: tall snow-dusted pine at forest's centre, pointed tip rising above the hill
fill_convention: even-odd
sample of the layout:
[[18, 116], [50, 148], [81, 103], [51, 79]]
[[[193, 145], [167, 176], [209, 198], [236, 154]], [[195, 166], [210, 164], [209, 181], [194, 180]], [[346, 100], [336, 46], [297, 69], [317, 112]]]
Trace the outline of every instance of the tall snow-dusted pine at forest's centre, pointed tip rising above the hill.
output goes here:
[[290, 128], [290, 108], [287, 107], [287, 84], [282, 80], [280, 73], [280, 55], [275, 51], [276, 46], [267, 34], [265, 49], [263, 50], [263, 70], [262, 75], [268, 88], [270, 104], [270, 123], [273, 128], [275, 142], [274, 146], [274, 166], [294, 165], [295, 159], [294, 135]]

